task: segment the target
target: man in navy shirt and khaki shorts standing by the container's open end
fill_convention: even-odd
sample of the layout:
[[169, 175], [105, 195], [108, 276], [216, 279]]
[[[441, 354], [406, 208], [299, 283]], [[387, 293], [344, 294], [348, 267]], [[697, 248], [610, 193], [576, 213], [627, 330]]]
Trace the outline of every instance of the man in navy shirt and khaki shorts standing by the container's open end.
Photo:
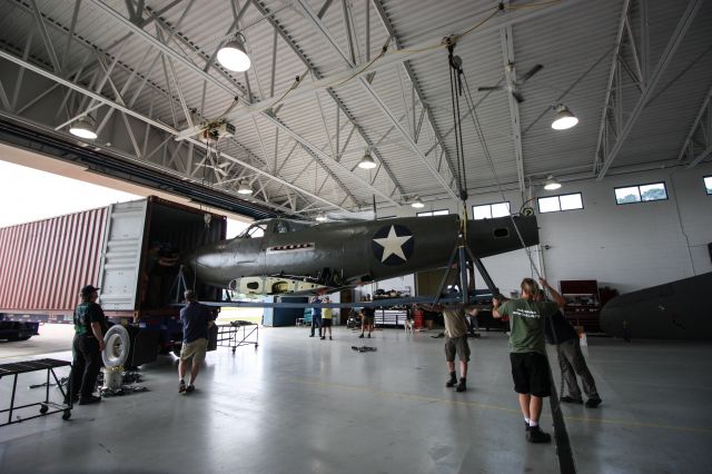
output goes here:
[[[178, 393], [190, 393], [196, 389], [195, 382], [200, 372], [200, 364], [205, 361], [205, 353], [208, 348], [208, 328], [215, 322], [210, 309], [198, 303], [192, 289], [184, 293], [186, 306], [180, 309], [180, 323], [182, 323], [182, 347], [180, 348], [180, 362], [178, 363], [178, 376], [180, 382]], [[186, 386], [186, 373], [188, 363], [190, 366], [190, 383]]]

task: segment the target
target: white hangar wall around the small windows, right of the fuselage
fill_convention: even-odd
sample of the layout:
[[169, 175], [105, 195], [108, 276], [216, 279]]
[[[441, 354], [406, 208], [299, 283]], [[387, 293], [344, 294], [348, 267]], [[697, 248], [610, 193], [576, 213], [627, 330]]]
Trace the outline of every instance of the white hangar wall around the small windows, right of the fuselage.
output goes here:
[[[703, 182], [703, 177], [711, 175], [712, 164], [706, 164], [607, 176], [601, 181], [570, 181], [557, 191], [537, 188], [536, 197], [582, 192], [584, 209], [537, 214], [541, 249], [531, 248], [531, 259], [555, 287], [562, 279], [596, 279], [599, 286], [621, 293], [712, 271], [706, 247], [712, 243], [712, 196], [706, 195]], [[615, 204], [615, 187], [656, 181], [665, 182], [668, 200]], [[518, 191], [506, 191], [505, 199], [518, 211], [523, 201]], [[468, 214], [473, 205], [502, 200], [500, 192], [473, 196], [467, 201]], [[536, 201], [531, 206], [538, 213]], [[428, 203], [421, 210], [447, 208], [458, 211], [452, 200]], [[378, 214], [405, 217], [416, 211], [403, 207]], [[505, 295], [517, 290], [523, 277], [536, 276], [524, 250], [483, 263]], [[477, 288], [484, 287], [477, 280]]]

